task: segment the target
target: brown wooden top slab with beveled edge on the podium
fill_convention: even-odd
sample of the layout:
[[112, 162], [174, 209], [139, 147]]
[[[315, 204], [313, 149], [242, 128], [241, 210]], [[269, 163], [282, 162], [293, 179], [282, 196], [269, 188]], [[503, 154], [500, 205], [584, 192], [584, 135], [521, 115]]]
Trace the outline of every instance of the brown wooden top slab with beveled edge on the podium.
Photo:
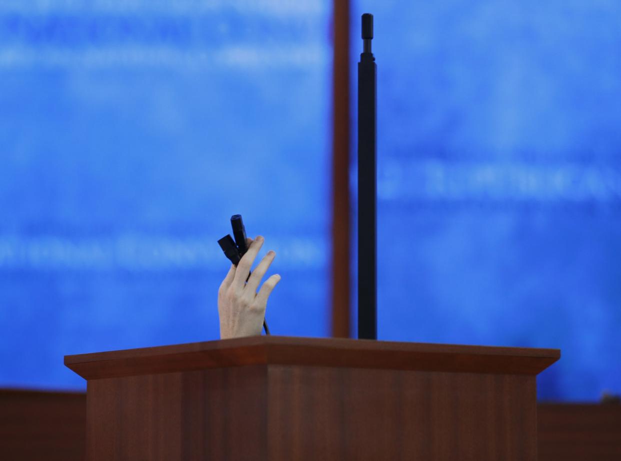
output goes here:
[[252, 336], [65, 356], [65, 365], [87, 380], [245, 365], [537, 375], [560, 356], [559, 349]]

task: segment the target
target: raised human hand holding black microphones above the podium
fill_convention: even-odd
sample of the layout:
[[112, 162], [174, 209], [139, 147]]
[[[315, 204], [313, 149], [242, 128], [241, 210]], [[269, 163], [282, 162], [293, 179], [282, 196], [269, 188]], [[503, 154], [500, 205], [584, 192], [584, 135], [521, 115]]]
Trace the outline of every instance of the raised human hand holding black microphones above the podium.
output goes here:
[[218, 290], [220, 339], [261, 334], [268, 297], [280, 281], [280, 275], [274, 274], [265, 280], [259, 292], [256, 292], [263, 275], [276, 256], [276, 253], [271, 250], [263, 256], [248, 279], [250, 268], [263, 246], [263, 241], [261, 236], [255, 240], [247, 239], [248, 251], [243, 255], [237, 267], [231, 264], [229, 273], [220, 285]]

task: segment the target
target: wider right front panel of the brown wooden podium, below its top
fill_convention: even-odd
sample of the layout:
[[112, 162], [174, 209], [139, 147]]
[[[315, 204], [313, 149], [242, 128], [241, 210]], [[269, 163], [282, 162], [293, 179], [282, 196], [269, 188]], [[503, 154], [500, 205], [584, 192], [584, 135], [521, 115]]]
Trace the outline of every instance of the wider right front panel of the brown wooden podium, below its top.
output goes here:
[[535, 377], [272, 366], [270, 460], [535, 460]]

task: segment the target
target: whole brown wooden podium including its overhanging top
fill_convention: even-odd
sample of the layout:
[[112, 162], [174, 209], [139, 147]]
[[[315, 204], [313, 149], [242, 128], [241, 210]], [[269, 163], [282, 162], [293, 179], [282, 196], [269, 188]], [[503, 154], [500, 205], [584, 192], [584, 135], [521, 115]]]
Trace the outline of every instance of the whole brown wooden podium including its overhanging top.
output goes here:
[[86, 459], [536, 460], [558, 349], [257, 336], [66, 356]]

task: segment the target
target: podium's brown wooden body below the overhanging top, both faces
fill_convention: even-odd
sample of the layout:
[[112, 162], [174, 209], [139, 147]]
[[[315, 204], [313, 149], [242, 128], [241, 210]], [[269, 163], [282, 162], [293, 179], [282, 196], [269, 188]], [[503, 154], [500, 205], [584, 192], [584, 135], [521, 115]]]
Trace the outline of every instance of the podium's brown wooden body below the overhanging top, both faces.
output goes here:
[[88, 385], [88, 460], [535, 460], [535, 377], [253, 365]]

